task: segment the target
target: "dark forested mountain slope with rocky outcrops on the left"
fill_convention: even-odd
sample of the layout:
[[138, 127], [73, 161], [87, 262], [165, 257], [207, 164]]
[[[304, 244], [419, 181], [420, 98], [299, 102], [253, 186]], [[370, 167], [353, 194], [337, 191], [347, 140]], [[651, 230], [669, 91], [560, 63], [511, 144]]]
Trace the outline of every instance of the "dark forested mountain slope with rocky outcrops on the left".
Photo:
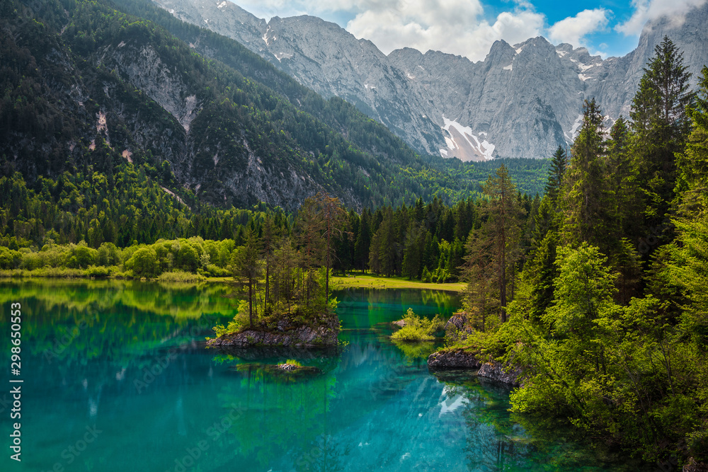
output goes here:
[[20, 172], [38, 190], [64, 174], [91, 186], [96, 173], [119, 188], [116, 169], [133, 166], [169, 195], [221, 207], [294, 209], [326, 191], [361, 208], [455, 200], [483, 180], [147, 1], [5, 1], [0, 79], [0, 177]]

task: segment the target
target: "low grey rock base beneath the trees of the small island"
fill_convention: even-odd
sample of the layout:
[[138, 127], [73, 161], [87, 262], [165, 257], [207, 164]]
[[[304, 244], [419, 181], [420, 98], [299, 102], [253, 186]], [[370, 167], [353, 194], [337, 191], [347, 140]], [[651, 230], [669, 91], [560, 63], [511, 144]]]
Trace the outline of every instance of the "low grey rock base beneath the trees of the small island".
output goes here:
[[239, 333], [229, 333], [207, 341], [211, 347], [250, 347], [250, 346], [294, 346], [324, 347], [336, 346], [339, 333], [339, 320], [330, 318], [318, 325], [296, 324], [283, 319], [278, 325], [254, 326]]

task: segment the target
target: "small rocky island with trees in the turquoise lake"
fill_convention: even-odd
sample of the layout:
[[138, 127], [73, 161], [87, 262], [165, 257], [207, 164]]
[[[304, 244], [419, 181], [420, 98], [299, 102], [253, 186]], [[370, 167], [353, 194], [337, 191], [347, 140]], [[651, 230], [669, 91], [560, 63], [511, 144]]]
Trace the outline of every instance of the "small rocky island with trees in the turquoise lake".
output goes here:
[[[295, 238], [302, 243], [297, 252], [290, 238], [276, 247], [268, 224], [261, 241], [249, 229], [244, 245], [232, 255], [238, 313], [227, 326], [214, 327], [217, 338], [207, 345], [336, 346], [337, 301], [329, 299], [333, 247], [326, 229], [343, 214], [336, 198], [306, 200], [295, 226]], [[261, 249], [261, 243], [266, 247]]]

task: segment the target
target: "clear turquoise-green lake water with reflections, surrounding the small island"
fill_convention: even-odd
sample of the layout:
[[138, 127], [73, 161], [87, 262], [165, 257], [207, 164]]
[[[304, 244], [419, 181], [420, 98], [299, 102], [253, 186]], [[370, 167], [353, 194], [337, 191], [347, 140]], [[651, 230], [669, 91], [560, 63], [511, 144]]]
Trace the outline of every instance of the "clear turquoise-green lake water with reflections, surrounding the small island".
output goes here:
[[[387, 338], [407, 308], [449, 315], [459, 300], [412, 290], [338, 292], [338, 353], [207, 350], [234, 314], [227, 288], [139, 282], [4, 282], [23, 305], [22, 459], [3, 471], [638, 470], [528, 419], [508, 388], [428, 372], [433, 345]], [[265, 365], [297, 359], [297, 379]], [[2, 391], [8, 391], [3, 388]], [[0, 400], [2, 396], [0, 394]], [[1, 402], [0, 402], [1, 403]], [[2, 409], [0, 404], [0, 409]], [[11, 431], [8, 409], [0, 431]]]

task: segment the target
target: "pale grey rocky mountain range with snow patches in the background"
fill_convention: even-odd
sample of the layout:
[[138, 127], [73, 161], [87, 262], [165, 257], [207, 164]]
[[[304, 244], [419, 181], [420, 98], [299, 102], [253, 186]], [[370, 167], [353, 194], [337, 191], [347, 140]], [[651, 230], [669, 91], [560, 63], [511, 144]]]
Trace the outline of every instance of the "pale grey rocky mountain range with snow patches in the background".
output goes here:
[[708, 4], [683, 21], [647, 23], [636, 50], [603, 60], [584, 47], [542, 37], [495, 42], [484, 61], [442, 52], [388, 56], [334, 23], [312, 16], [267, 23], [226, 0], [155, 0], [176, 18], [238, 40], [325, 97], [338, 96], [413, 148], [479, 161], [540, 158], [570, 144], [583, 100], [595, 98], [607, 125], [627, 117], [642, 68], [664, 35], [694, 74], [708, 64]]

